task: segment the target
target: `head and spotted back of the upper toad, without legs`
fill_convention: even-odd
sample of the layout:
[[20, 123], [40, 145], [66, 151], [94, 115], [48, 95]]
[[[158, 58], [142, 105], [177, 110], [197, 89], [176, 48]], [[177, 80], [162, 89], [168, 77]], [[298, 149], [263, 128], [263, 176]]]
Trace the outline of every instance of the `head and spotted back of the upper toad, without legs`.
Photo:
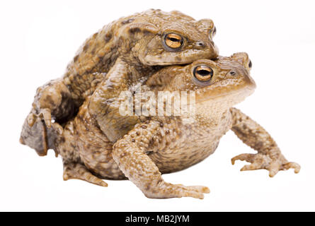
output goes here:
[[[152, 66], [214, 59], [218, 50], [212, 41], [213, 31], [212, 20], [196, 21], [178, 11], [148, 10], [120, 18], [86, 40], [67, 67], [64, 83], [79, 106], [93, 93], [91, 81], [95, 75], [107, 73], [117, 64], [117, 59], [134, 66], [141, 76], [156, 71]], [[181, 49], [173, 51], [164, 47], [163, 38], [168, 32], [175, 32], [185, 39]]]

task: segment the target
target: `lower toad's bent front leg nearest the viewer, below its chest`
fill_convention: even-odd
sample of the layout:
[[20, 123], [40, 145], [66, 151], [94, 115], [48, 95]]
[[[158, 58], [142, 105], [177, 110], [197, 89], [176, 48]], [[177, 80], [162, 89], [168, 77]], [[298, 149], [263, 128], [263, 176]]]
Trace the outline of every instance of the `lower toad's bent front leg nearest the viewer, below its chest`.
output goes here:
[[159, 168], [146, 154], [161, 148], [165, 136], [159, 121], [137, 124], [113, 146], [113, 158], [131, 182], [148, 198], [203, 198], [205, 186], [183, 186], [164, 182]]

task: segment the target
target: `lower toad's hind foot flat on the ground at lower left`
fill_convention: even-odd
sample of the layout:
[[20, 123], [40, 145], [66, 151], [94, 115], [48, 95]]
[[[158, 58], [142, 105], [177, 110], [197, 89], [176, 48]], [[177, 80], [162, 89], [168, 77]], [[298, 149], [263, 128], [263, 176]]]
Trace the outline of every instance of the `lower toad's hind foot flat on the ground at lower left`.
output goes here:
[[65, 181], [67, 181], [68, 179], [81, 179], [99, 186], [108, 186], [106, 182], [91, 174], [91, 172], [88, 171], [88, 169], [84, 165], [77, 162], [64, 161], [63, 177]]

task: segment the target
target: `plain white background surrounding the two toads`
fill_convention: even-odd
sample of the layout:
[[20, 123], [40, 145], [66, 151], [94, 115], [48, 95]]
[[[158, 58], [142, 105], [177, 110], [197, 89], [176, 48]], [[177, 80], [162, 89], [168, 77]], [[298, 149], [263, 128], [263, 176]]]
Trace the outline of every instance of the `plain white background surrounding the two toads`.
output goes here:
[[[161, 8], [212, 18], [220, 54], [248, 52], [256, 93], [238, 107], [271, 133], [282, 153], [302, 166], [239, 172], [230, 159], [253, 152], [229, 131], [198, 165], [164, 175], [167, 182], [205, 185], [205, 199], [146, 198], [129, 181], [108, 188], [62, 180], [62, 160], [18, 143], [35, 89], [62, 76], [89, 35], [121, 16]], [[1, 1], [0, 210], [221, 211], [315, 210], [314, 1]]]

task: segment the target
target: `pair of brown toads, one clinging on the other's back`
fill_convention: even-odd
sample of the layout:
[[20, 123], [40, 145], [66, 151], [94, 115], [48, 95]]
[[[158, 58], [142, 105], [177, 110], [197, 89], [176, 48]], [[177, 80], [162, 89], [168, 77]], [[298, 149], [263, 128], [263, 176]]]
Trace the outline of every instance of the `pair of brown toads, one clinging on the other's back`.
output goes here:
[[[256, 88], [251, 61], [246, 53], [220, 57], [215, 32], [212, 20], [178, 11], [149, 10], [105, 25], [62, 78], [38, 88], [21, 143], [40, 156], [49, 149], [61, 155], [64, 180], [108, 186], [103, 179], [129, 179], [149, 198], [203, 198], [207, 187], [170, 184], [161, 174], [204, 160], [230, 129], [258, 152], [232, 158], [232, 164], [251, 162], [241, 170], [268, 169], [270, 177], [299, 172], [263, 127], [233, 107]], [[131, 95], [122, 98], [124, 92]], [[193, 106], [193, 121], [156, 114], [155, 105], [151, 114], [137, 114], [134, 105], [147, 106], [147, 96], [134, 97], [146, 92], [152, 100], [159, 93], [193, 93], [180, 107]], [[121, 114], [126, 99], [133, 114]]]

